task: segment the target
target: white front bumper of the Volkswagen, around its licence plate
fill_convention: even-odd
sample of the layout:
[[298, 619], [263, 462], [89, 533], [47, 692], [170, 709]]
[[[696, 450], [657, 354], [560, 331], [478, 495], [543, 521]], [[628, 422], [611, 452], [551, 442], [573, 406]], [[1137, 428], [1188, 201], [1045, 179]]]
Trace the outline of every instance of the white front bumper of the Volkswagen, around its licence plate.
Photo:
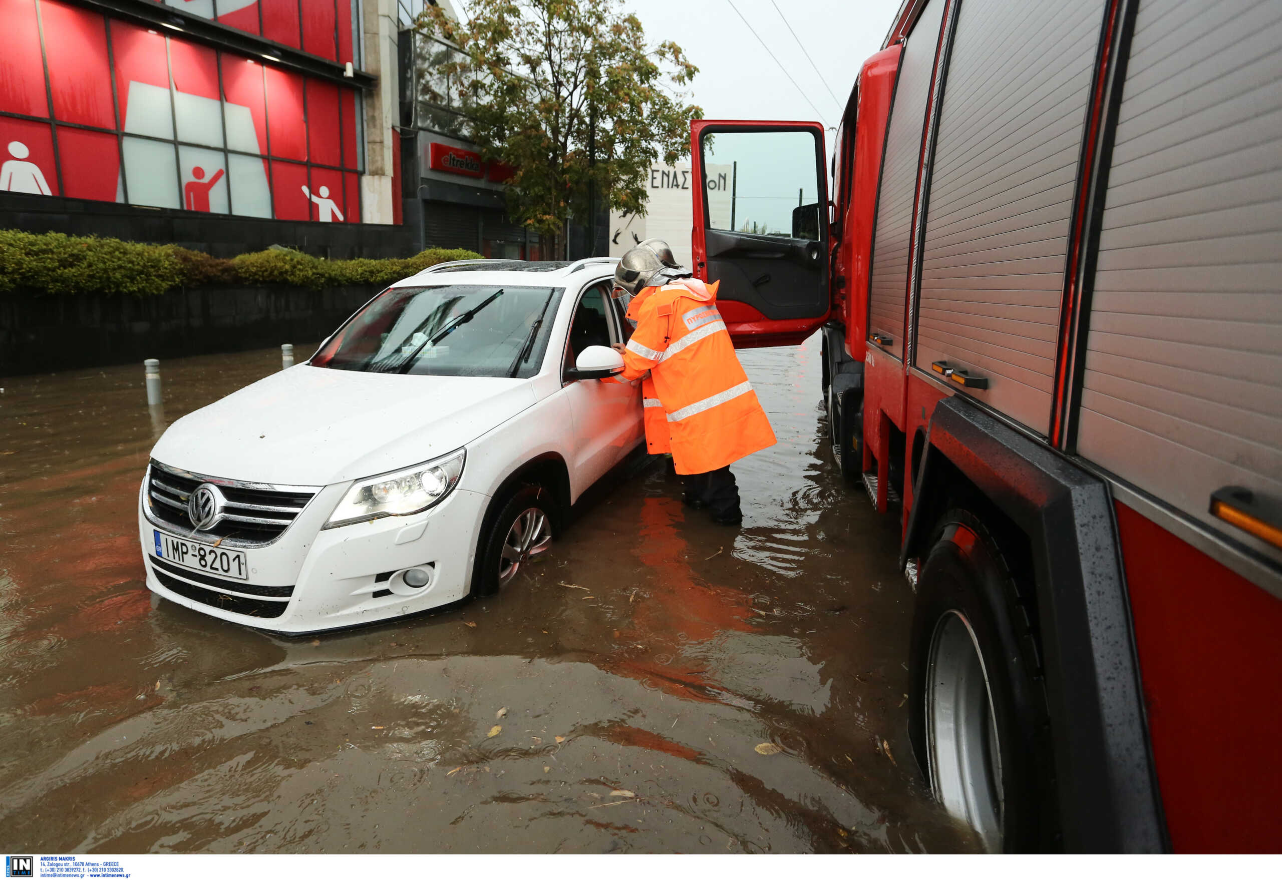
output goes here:
[[[153, 523], [140, 492], [147, 589], [201, 614], [288, 634], [390, 620], [468, 594], [487, 496], [455, 487], [422, 514], [322, 529], [346, 488], [322, 489], [271, 544], [237, 547], [250, 570], [245, 584], [158, 564], [155, 530], [191, 537]], [[428, 569], [428, 584], [415, 589], [395, 574], [409, 567]]]

